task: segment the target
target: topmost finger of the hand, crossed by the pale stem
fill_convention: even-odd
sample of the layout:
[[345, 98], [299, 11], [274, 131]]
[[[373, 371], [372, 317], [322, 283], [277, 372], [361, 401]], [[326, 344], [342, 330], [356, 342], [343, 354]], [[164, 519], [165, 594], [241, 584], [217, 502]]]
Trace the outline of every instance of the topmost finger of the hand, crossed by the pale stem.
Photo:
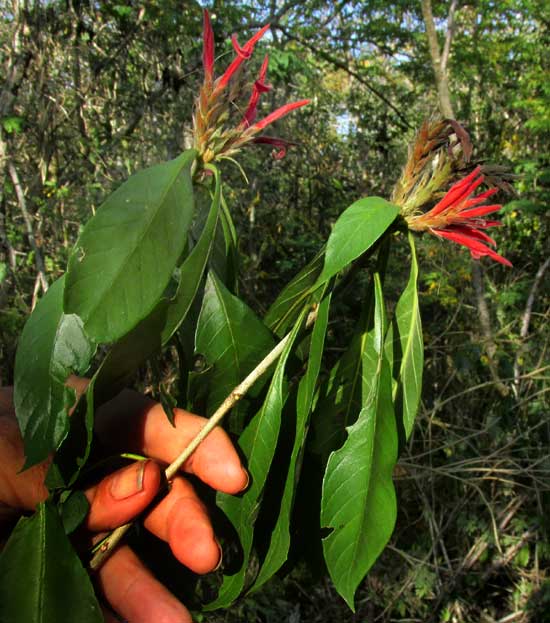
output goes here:
[[[128, 450], [130, 444], [134, 452], [166, 463], [181, 453], [207, 421], [183, 409], [174, 409], [172, 426], [160, 404], [140, 401], [134, 392], [127, 391], [112, 401], [104, 415], [98, 434], [110, 449]], [[238, 493], [248, 484], [248, 474], [231, 440], [219, 427], [201, 443], [183, 469], [225, 493]]]

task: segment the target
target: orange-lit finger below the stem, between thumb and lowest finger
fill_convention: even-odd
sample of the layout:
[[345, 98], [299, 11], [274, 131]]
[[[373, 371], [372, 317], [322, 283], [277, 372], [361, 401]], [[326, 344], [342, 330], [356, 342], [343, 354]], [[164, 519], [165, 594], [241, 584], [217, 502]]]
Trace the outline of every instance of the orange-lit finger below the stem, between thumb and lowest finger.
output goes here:
[[185, 478], [174, 478], [170, 493], [149, 513], [144, 525], [195, 573], [213, 571], [221, 562], [221, 548], [206, 508]]

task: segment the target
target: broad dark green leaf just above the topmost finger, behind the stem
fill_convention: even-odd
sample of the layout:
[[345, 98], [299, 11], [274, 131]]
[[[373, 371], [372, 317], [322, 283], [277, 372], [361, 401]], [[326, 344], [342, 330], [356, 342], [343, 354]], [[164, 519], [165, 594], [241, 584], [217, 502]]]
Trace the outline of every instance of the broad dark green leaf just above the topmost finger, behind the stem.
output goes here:
[[273, 348], [274, 341], [254, 312], [210, 272], [195, 344], [212, 366], [207, 375], [207, 413], [211, 414]]

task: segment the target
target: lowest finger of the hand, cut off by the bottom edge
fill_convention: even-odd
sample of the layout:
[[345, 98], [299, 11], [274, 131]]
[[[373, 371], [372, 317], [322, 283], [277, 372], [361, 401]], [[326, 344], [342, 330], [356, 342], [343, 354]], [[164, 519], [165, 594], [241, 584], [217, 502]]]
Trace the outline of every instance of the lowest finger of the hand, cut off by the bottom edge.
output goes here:
[[151, 575], [126, 545], [113, 552], [97, 578], [113, 610], [128, 623], [192, 623], [187, 608]]

